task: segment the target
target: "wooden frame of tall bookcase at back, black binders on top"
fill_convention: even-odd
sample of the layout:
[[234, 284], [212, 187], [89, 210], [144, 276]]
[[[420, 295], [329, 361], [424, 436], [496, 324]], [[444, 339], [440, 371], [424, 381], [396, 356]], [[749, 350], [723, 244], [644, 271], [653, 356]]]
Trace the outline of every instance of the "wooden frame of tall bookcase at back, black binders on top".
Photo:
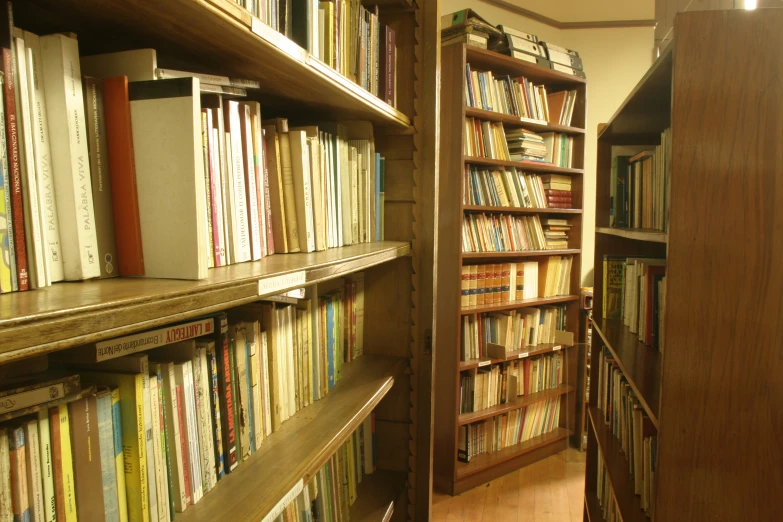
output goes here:
[[[564, 304], [566, 306], [566, 330], [578, 339], [579, 334], [579, 286], [581, 273], [582, 190], [584, 166], [584, 123], [587, 85], [585, 80], [533, 65], [521, 60], [487, 50], [464, 45], [450, 45], [441, 52], [441, 111], [439, 191], [437, 197], [436, 248], [437, 258], [435, 299], [435, 345], [437, 353], [435, 382], [435, 486], [450, 494], [459, 494], [509, 471], [520, 468], [568, 446], [572, 435], [578, 438], [575, 422], [577, 352], [573, 346], [543, 344], [530, 346], [524, 353], [508, 354], [505, 360], [485, 359], [460, 361], [460, 336], [462, 317], [482, 312], [510, 311], [523, 307]], [[523, 122], [519, 117], [466, 106], [465, 66], [472, 71], [492, 71], [496, 77], [524, 76], [536, 85], [546, 85], [547, 92], [576, 90], [576, 106], [571, 126]], [[572, 136], [575, 141], [573, 168], [560, 168], [534, 162], [501, 161], [465, 156], [463, 140], [465, 118], [502, 123], [506, 129], [523, 127], [534, 132], [555, 131]], [[447, 134], [447, 130], [450, 133]], [[570, 176], [573, 207], [556, 208], [500, 208], [468, 206], [463, 203], [463, 169], [466, 166], [515, 167], [526, 173], [557, 173]], [[511, 253], [463, 253], [462, 220], [470, 213], [510, 212], [517, 215], [539, 215], [541, 219], [565, 218], [573, 225], [569, 234], [568, 249], [562, 251], [534, 250]], [[573, 267], [568, 295], [514, 301], [509, 304], [461, 307], [461, 269], [477, 263], [506, 263], [522, 261], [546, 262], [551, 255], [572, 255]], [[563, 384], [557, 388], [533, 395], [523, 395], [488, 410], [460, 414], [460, 376], [481, 365], [493, 366], [512, 358], [521, 360], [553, 351], [564, 350], [565, 366]], [[526, 442], [506, 447], [500, 451], [478, 455], [469, 463], [457, 459], [459, 427], [479, 422], [496, 415], [521, 409], [536, 402], [560, 397], [560, 419], [554, 431]], [[573, 444], [576, 444], [574, 438]]]

